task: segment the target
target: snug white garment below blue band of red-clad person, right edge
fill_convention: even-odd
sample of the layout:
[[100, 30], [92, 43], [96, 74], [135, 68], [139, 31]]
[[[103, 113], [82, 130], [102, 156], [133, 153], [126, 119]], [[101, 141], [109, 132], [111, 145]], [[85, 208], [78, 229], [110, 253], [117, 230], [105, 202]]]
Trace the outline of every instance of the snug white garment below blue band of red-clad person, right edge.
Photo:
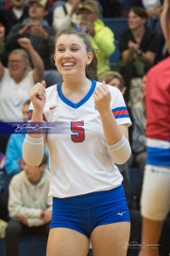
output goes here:
[[141, 213], [150, 220], [163, 221], [170, 210], [170, 167], [146, 165]]

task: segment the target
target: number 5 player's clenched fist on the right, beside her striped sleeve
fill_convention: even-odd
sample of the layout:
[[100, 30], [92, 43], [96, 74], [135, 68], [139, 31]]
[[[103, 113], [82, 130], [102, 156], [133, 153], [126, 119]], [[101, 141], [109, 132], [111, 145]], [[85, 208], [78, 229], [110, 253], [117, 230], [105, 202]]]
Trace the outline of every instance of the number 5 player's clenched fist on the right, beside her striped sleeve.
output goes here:
[[93, 99], [100, 115], [110, 111], [110, 91], [106, 82], [102, 82], [95, 88]]

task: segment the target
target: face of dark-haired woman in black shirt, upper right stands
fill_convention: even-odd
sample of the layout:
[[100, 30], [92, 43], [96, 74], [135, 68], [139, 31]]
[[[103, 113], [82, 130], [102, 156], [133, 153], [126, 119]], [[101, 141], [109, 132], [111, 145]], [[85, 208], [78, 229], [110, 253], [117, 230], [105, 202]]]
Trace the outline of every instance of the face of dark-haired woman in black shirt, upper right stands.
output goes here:
[[144, 27], [146, 19], [138, 16], [134, 11], [129, 11], [128, 13], [128, 27], [129, 29], [137, 29], [139, 27]]

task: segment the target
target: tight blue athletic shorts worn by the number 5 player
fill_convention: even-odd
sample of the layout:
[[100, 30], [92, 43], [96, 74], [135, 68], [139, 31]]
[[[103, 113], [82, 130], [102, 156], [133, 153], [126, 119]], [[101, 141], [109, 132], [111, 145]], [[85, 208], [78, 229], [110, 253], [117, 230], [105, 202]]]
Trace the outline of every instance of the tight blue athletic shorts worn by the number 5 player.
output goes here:
[[110, 191], [53, 198], [51, 229], [74, 229], [90, 237], [97, 226], [129, 221], [122, 185]]

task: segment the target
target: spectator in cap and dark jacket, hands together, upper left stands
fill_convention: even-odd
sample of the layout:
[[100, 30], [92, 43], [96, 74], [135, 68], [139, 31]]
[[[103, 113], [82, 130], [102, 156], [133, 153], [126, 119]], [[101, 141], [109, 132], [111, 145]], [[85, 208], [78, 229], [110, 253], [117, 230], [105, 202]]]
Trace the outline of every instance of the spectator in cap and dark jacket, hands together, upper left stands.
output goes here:
[[30, 39], [32, 46], [42, 57], [44, 64], [44, 76], [47, 86], [61, 82], [61, 75], [56, 70], [55, 64], [52, 64], [50, 37], [56, 34], [53, 27], [49, 26], [44, 16], [47, 14], [46, 0], [30, 0], [29, 1], [29, 17], [22, 23], [11, 28], [7, 37], [7, 50], [11, 51], [18, 48], [17, 39], [27, 37]]

